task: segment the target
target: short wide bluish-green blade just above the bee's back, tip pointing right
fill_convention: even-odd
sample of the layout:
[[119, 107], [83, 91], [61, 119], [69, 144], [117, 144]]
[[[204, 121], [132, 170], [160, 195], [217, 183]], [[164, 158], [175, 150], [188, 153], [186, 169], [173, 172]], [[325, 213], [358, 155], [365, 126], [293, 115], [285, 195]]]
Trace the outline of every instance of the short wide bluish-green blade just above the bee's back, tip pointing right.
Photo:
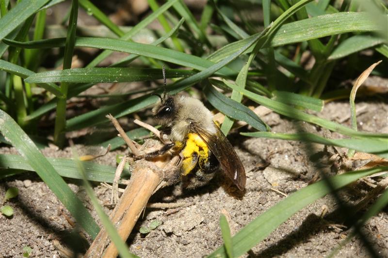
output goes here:
[[223, 112], [226, 116], [233, 119], [245, 121], [252, 127], [259, 131], [270, 130], [269, 126], [248, 107], [242, 105], [240, 102], [229, 99], [224, 94], [218, 92], [210, 84], [204, 89], [206, 98], [212, 106]]

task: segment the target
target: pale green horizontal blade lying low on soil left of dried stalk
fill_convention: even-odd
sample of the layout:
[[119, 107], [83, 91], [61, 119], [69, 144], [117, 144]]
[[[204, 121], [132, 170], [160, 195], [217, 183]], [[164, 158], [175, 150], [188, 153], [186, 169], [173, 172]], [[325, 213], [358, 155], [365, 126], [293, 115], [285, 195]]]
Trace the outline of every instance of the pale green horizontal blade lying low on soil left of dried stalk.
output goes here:
[[[62, 177], [82, 179], [74, 160], [65, 158], [46, 158], [52, 167]], [[113, 182], [116, 167], [100, 165], [94, 162], [82, 161], [86, 176], [89, 181]], [[35, 171], [30, 164], [20, 155], [0, 154], [0, 167], [10, 169], [23, 169], [24, 171]], [[129, 171], [124, 170], [123, 176], [128, 176]]]

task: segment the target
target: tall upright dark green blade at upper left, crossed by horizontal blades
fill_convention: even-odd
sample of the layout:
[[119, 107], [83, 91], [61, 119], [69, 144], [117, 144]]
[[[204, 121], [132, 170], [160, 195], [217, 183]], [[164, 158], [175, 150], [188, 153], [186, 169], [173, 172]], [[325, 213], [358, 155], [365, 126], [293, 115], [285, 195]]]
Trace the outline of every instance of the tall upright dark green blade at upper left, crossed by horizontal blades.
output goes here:
[[[66, 43], [65, 43], [65, 54], [63, 69], [71, 68], [71, 61], [73, 59], [73, 51], [76, 38], [77, 30], [77, 19], [78, 19], [78, 0], [72, 0], [71, 12], [69, 17], [69, 28], [67, 30]], [[65, 127], [66, 127], [66, 101], [67, 91], [69, 84], [67, 82], [61, 83], [62, 97], [58, 98], [57, 101], [57, 112], [55, 117], [54, 127], [54, 143], [62, 147], [65, 142]]]

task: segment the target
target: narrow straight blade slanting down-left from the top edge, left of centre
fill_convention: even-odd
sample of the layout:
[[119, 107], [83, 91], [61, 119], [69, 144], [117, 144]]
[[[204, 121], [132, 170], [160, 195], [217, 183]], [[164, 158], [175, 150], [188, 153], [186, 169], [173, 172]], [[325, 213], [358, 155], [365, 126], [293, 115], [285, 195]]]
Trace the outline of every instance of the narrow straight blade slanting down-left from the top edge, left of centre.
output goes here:
[[[173, 5], [173, 2], [166, 2], [157, 11], [155, 11], [154, 13], [148, 15], [145, 19], [143, 19], [141, 22], [136, 24], [131, 30], [129, 30], [127, 33], [125, 33], [120, 39], [124, 40], [124, 41], [129, 41], [132, 38], [133, 35], [138, 33], [141, 29], [145, 28], [148, 24], [150, 24], [154, 19], [156, 19], [159, 15], [161, 15], [163, 12], [165, 12], [172, 5]], [[102, 51], [102, 53], [99, 54], [88, 65], [86, 65], [86, 67], [87, 68], [95, 67], [98, 63], [100, 63], [102, 60], [107, 58], [112, 53], [113, 53], [112, 50], [104, 50], [104, 51]], [[131, 53], [131, 52], [129, 52], [129, 53]]]

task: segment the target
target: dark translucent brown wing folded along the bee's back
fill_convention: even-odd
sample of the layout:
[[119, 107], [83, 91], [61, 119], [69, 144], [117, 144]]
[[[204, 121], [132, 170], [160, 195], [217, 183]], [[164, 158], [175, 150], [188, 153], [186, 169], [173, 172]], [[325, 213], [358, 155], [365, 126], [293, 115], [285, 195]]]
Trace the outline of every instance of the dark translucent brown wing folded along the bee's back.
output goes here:
[[217, 158], [226, 175], [243, 191], [246, 181], [244, 166], [234, 151], [233, 146], [217, 124], [214, 124], [217, 128], [215, 135], [210, 134], [204, 128], [196, 126], [195, 124], [192, 125], [192, 131], [198, 134], [208, 144], [210, 151]]

